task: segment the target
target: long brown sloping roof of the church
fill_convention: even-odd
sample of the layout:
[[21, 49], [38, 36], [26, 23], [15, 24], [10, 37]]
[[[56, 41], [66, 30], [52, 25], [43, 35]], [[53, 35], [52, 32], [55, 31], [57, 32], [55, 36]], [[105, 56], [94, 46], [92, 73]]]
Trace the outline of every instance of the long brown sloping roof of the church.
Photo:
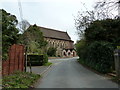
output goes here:
[[43, 36], [46, 38], [55, 38], [55, 39], [60, 39], [60, 40], [72, 41], [67, 32], [58, 31], [58, 30], [45, 28], [45, 27], [39, 27], [39, 28], [41, 32], [43, 32]]

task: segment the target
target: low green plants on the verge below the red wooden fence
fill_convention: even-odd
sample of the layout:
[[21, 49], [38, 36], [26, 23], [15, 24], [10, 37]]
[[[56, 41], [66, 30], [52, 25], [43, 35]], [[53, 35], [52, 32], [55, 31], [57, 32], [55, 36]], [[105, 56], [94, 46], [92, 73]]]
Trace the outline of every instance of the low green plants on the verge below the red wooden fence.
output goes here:
[[3, 77], [2, 88], [30, 88], [39, 78], [38, 74], [17, 71]]

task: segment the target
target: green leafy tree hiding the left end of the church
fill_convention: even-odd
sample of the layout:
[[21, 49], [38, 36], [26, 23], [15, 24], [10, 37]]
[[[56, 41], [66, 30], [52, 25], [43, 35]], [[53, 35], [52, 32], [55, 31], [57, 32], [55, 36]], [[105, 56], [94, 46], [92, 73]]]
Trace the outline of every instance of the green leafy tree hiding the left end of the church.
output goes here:
[[31, 25], [22, 35], [21, 43], [27, 46], [28, 53], [40, 53], [40, 49], [47, 45], [43, 33], [37, 25]]

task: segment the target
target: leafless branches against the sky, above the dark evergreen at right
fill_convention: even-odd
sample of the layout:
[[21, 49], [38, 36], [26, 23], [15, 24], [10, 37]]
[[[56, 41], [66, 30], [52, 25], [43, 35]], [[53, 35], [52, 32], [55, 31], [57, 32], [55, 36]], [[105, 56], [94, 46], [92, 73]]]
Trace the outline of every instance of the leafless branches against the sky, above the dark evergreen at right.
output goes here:
[[120, 0], [99, 0], [95, 4], [93, 11], [88, 11], [85, 4], [83, 4], [86, 11], [78, 12], [75, 17], [75, 27], [80, 38], [84, 38], [84, 30], [95, 20], [103, 20], [107, 18], [115, 18], [114, 12], [118, 10], [120, 16]]

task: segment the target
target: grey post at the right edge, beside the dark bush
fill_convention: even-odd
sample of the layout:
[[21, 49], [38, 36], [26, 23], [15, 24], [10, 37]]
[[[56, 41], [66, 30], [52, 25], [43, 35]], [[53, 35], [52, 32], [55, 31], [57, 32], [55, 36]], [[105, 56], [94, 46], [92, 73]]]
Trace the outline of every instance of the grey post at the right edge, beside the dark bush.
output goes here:
[[118, 78], [118, 86], [120, 89], [120, 48], [114, 51], [115, 70]]

